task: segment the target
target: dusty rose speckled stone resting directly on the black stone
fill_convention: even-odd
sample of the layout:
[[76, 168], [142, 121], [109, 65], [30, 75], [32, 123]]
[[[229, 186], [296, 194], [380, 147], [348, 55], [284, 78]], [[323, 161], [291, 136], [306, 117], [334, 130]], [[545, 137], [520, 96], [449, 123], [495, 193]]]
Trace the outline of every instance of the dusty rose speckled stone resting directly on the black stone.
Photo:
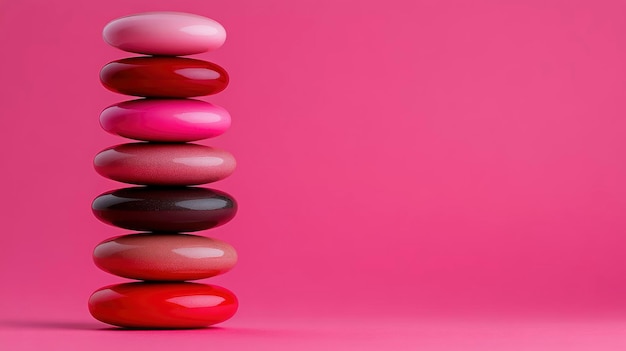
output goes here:
[[93, 161], [101, 176], [140, 185], [198, 185], [235, 171], [228, 151], [198, 144], [129, 143], [102, 150]]

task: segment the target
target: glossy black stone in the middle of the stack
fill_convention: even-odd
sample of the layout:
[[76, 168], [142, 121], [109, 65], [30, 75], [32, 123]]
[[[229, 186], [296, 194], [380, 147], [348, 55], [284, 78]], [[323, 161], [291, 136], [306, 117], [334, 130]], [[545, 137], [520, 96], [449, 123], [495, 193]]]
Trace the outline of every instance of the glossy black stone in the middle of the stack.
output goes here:
[[100, 221], [149, 232], [195, 232], [220, 226], [237, 213], [225, 192], [198, 188], [133, 187], [109, 191], [92, 203]]

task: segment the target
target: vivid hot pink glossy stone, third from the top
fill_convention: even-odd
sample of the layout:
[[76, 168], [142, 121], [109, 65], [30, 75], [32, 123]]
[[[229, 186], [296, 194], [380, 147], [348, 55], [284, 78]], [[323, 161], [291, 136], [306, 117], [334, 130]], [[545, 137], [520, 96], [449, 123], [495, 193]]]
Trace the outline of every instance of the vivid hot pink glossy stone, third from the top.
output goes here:
[[230, 114], [200, 100], [139, 99], [107, 107], [100, 125], [125, 138], [185, 142], [221, 135], [230, 127]]

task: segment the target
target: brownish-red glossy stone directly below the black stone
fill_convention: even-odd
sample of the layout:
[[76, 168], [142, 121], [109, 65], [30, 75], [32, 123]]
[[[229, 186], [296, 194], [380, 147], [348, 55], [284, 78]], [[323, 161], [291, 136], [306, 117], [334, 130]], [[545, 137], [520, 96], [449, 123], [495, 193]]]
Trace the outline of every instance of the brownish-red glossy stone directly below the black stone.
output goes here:
[[130, 234], [107, 239], [94, 249], [100, 269], [138, 280], [183, 281], [213, 277], [232, 269], [231, 245], [188, 234]]

